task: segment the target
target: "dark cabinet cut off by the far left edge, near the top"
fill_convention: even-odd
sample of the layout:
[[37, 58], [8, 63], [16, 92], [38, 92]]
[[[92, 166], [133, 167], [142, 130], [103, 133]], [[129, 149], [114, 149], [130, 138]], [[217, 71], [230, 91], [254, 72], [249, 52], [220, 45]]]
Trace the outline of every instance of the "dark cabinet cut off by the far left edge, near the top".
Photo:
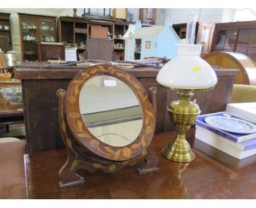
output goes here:
[[0, 48], [4, 52], [13, 50], [9, 13], [0, 13]]

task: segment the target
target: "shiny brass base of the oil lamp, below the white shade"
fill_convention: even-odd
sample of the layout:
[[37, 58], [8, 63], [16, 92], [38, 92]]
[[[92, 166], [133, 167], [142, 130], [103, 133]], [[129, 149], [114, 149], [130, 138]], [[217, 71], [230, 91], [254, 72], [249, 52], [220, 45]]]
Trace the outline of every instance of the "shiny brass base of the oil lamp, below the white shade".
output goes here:
[[185, 133], [200, 114], [199, 106], [190, 101], [193, 94], [191, 90], [179, 89], [179, 100], [172, 101], [168, 106], [168, 113], [177, 131], [176, 137], [162, 150], [162, 154], [169, 160], [190, 162], [195, 159], [194, 152], [185, 138]]

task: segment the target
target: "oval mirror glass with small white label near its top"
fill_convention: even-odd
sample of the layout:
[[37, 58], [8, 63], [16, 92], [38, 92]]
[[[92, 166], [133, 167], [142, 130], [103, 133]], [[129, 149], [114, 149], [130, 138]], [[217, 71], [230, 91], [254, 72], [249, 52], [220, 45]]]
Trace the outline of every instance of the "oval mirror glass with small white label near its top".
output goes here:
[[126, 146], [142, 130], [142, 108], [136, 94], [114, 76], [98, 75], [86, 81], [79, 108], [89, 131], [108, 145]]

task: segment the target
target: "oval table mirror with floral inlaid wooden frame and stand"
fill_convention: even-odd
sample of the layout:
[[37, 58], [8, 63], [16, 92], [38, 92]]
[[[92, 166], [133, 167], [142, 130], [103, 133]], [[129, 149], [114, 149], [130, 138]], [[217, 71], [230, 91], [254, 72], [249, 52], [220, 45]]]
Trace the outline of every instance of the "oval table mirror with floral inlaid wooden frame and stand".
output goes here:
[[158, 171], [158, 158], [149, 148], [156, 91], [148, 93], [131, 74], [110, 65], [90, 66], [72, 79], [67, 92], [57, 91], [68, 152], [59, 172], [61, 188], [84, 183], [77, 169], [114, 173], [142, 161], [138, 174]]

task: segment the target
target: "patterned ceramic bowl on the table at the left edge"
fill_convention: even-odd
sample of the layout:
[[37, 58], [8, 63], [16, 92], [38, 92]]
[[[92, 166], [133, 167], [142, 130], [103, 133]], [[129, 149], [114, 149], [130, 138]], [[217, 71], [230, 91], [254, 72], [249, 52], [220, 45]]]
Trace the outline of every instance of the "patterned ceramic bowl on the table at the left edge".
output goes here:
[[21, 87], [8, 87], [0, 90], [4, 99], [9, 101], [10, 105], [22, 104], [22, 91]]

